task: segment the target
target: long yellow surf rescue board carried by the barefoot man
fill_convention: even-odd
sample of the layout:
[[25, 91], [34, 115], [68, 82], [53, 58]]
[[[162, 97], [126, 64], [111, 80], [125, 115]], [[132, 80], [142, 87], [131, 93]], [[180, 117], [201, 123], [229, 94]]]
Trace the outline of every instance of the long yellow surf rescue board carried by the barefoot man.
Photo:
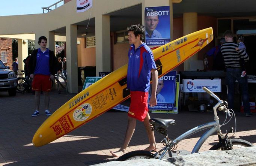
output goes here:
[[[154, 49], [159, 77], [196, 54], [212, 40], [212, 28], [206, 28]], [[48, 144], [128, 99], [127, 66], [111, 72], [57, 109], [36, 131], [33, 145], [40, 147]]]

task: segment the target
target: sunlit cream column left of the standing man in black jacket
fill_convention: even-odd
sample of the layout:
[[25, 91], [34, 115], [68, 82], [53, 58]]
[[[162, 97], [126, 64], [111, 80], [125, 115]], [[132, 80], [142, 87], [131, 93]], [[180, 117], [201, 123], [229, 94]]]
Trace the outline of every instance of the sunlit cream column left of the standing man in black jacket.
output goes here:
[[24, 70], [23, 60], [27, 57], [27, 40], [18, 39], [18, 69]]

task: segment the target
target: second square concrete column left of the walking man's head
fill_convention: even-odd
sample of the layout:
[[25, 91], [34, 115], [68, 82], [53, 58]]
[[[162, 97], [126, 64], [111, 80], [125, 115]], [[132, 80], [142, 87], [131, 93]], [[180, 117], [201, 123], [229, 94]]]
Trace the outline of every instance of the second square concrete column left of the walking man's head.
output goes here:
[[69, 93], [78, 93], [77, 25], [66, 26], [66, 58], [68, 91]]

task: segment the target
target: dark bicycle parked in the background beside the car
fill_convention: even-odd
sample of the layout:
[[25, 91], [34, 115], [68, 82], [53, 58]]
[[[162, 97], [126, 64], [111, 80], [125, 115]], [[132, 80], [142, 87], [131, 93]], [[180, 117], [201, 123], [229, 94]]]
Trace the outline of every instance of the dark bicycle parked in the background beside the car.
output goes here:
[[17, 85], [17, 92], [24, 94], [26, 91], [30, 92], [31, 91], [31, 79], [29, 76], [23, 77], [25, 74], [24, 70], [21, 70], [21, 75], [22, 77], [18, 77], [18, 85]]

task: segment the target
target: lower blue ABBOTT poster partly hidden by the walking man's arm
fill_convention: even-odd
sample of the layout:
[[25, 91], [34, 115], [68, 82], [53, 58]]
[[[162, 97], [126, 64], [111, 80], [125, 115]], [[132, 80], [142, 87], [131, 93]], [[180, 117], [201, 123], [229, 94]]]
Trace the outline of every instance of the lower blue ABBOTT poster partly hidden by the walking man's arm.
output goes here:
[[[174, 113], [176, 71], [170, 71], [158, 79], [157, 84], [157, 105], [149, 106], [152, 113]], [[149, 97], [151, 96], [151, 91]]]

